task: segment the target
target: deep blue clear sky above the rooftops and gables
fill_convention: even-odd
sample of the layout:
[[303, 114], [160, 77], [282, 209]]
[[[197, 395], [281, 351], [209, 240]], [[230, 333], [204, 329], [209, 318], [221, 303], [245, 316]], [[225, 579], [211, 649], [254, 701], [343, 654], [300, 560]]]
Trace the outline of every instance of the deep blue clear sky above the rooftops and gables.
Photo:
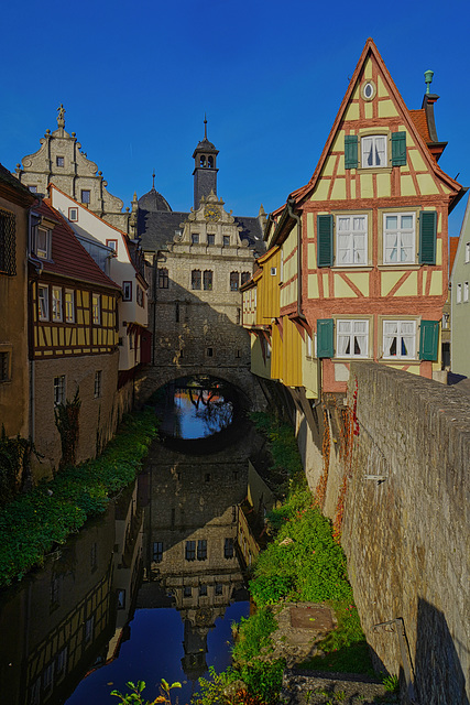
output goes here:
[[187, 210], [207, 112], [226, 207], [273, 210], [311, 176], [372, 36], [408, 108], [420, 108], [424, 72], [435, 72], [437, 133], [449, 142], [439, 164], [469, 186], [469, 19], [468, 0], [9, 2], [0, 161], [14, 170], [35, 152], [63, 102], [66, 130], [124, 205], [155, 169], [157, 191]]

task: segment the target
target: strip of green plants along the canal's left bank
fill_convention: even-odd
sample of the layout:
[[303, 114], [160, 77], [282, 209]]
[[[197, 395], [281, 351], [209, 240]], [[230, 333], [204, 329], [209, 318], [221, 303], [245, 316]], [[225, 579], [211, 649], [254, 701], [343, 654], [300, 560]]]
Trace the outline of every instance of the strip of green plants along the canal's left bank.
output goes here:
[[7, 505], [0, 511], [0, 586], [21, 579], [55, 543], [105, 511], [108, 497], [135, 478], [155, 435], [152, 410], [130, 414], [99, 458], [64, 468]]

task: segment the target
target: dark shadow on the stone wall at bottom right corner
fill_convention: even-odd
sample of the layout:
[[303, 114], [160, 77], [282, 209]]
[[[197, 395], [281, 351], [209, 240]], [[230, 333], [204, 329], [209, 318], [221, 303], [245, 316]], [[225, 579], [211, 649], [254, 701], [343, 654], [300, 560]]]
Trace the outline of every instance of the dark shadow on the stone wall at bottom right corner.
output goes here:
[[[468, 619], [468, 615], [460, 618]], [[459, 652], [468, 654], [468, 644], [455, 643], [445, 615], [418, 598], [415, 674], [419, 704], [469, 705], [459, 655]]]

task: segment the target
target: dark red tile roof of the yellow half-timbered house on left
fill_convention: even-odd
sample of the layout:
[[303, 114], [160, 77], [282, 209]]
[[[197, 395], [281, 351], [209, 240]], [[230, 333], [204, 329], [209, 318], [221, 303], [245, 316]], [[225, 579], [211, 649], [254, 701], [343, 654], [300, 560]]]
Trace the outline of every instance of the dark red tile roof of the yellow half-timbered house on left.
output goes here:
[[80, 245], [67, 221], [58, 210], [52, 207], [47, 198], [44, 198], [34, 212], [55, 223], [52, 231], [52, 260], [41, 260], [44, 272], [120, 290], [120, 286], [105, 274], [91, 254]]

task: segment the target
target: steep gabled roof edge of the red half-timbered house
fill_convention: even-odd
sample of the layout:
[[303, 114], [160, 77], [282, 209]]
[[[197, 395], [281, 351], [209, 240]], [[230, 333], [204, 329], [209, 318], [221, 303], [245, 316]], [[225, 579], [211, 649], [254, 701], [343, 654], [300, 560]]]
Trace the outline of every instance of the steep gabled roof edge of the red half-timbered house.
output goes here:
[[[404, 122], [406, 122], [407, 128], [409, 130], [409, 132], [415, 137], [416, 141], [418, 143], [420, 143], [422, 148], [423, 148], [423, 158], [424, 160], [427, 162], [427, 165], [429, 167], [429, 171], [433, 171], [436, 176], [445, 182], [446, 186], [448, 186], [451, 191], [455, 192], [455, 195], [450, 198], [450, 203], [449, 203], [449, 213], [450, 210], [457, 205], [458, 200], [462, 197], [464, 191], [463, 187], [453, 178], [451, 178], [450, 176], [448, 176], [435, 162], [435, 160], [433, 159], [429, 150], [427, 149], [426, 142], [420, 133], [420, 131], [418, 130], [418, 128], [416, 127], [416, 123], [414, 121], [414, 119], [412, 118], [409, 110], [407, 109], [402, 96], [400, 95], [398, 89], [396, 88], [392, 76], [389, 73], [389, 69], [385, 66], [385, 63], [382, 58], [382, 56], [379, 53], [378, 47], [375, 46], [374, 42], [372, 39], [368, 39], [368, 41], [365, 42], [365, 46], [362, 51], [362, 54], [359, 58], [358, 65], [356, 66], [354, 73], [352, 74], [351, 80], [349, 82], [349, 86], [348, 86], [348, 90], [346, 91], [346, 95], [342, 99], [341, 106], [339, 108], [338, 115], [336, 116], [335, 122], [331, 127], [330, 133], [328, 135], [328, 139], [326, 141], [326, 144], [324, 147], [324, 151], [321, 152], [320, 159], [318, 161], [318, 164], [315, 169], [315, 172], [310, 178], [310, 181], [308, 182], [308, 184], [306, 184], [305, 186], [302, 186], [300, 188], [297, 188], [296, 191], [294, 191], [291, 194], [291, 198], [294, 198], [297, 204], [302, 203], [303, 200], [305, 200], [309, 194], [311, 194], [311, 192], [314, 191], [317, 181], [321, 174], [321, 170], [323, 166], [325, 164], [325, 161], [328, 156], [328, 153], [330, 151], [331, 144], [335, 140], [335, 137], [338, 132], [338, 130], [340, 129], [340, 124], [341, 121], [345, 117], [346, 110], [348, 108], [348, 102], [351, 98], [351, 95], [354, 90], [356, 84], [358, 82], [359, 75], [361, 73], [362, 67], [365, 64], [367, 58], [369, 57], [369, 55], [373, 55], [374, 59], [378, 63], [378, 66], [382, 73], [382, 77], [384, 83], [387, 86], [387, 89], [390, 91], [391, 95], [393, 95], [394, 99], [396, 100], [396, 104], [402, 112], [402, 117]], [[277, 212], [276, 212], [277, 213]]]

